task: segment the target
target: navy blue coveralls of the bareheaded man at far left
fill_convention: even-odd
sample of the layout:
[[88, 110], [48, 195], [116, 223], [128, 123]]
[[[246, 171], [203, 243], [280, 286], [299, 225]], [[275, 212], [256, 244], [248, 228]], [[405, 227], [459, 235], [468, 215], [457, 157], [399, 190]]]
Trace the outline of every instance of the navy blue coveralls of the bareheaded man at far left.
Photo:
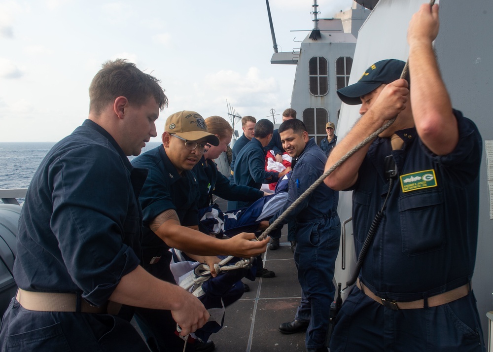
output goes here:
[[[146, 171], [86, 120], [46, 155], [19, 218], [13, 274], [24, 290], [76, 293], [104, 305], [139, 265]], [[15, 298], [3, 316], [1, 351], [148, 351], [130, 324], [133, 311], [36, 312]], [[126, 314], [125, 314], [126, 313]]]

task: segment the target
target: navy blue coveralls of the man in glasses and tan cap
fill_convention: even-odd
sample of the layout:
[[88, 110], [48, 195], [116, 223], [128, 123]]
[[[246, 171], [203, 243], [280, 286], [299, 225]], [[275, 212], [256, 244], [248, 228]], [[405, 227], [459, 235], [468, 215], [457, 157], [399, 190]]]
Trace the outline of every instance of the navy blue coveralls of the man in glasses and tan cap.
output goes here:
[[[153, 276], [176, 283], [170, 269], [170, 247], [150, 230], [149, 224], [163, 211], [173, 209], [182, 226], [198, 225], [197, 179], [191, 171], [179, 175], [162, 144], [132, 160], [132, 165], [149, 170], [139, 197], [143, 212], [142, 266]], [[136, 320], [152, 351], [183, 350], [170, 311], [138, 308]], [[192, 348], [192, 344], [187, 345], [187, 351]]]

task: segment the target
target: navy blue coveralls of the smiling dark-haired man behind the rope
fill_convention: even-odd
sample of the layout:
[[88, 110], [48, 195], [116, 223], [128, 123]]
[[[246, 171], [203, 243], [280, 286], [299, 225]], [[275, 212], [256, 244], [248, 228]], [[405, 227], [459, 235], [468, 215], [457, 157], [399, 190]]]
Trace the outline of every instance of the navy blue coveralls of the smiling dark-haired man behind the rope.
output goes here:
[[[297, 158], [289, 179], [288, 198], [273, 223], [298, 197], [323, 174], [327, 157], [312, 138]], [[334, 300], [332, 282], [339, 251], [341, 222], [337, 215], [339, 192], [321, 183], [284, 220], [296, 220], [294, 261], [302, 300], [295, 319], [310, 322], [306, 333], [306, 348], [323, 347], [329, 321], [329, 308]]]

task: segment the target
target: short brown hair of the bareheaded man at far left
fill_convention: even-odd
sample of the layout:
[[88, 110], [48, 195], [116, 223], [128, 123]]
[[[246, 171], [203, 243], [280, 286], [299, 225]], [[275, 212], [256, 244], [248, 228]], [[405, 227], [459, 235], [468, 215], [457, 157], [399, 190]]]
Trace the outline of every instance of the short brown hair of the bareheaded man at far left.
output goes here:
[[99, 115], [118, 97], [125, 97], [136, 106], [142, 106], [153, 97], [162, 110], [168, 106], [168, 98], [159, 83], [158, 79], [125, 59], [108, 60], [89, 87], [89, 111]]

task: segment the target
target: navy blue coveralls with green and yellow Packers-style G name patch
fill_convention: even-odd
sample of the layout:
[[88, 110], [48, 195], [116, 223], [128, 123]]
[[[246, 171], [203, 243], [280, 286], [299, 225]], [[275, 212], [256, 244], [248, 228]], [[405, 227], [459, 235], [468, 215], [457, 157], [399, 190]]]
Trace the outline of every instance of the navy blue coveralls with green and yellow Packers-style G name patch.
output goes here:
[[[426, 299], [470, 282], [476, 259], [481, 136], [454, 110], [459, 141], [438, 156], [416, 129], [396, 132], [403, 149], [377, 138], [353, 190], [356, 252], [387, 195], [384, 159], [392, 154], [398, 178], [363, 263], [360, 280], [377, 296], [397, 302]], [[448, 304], [391, 310], [354, 287], [344, 302], [330, 343], [339, 351], [484, 351], [472, 291]]]

